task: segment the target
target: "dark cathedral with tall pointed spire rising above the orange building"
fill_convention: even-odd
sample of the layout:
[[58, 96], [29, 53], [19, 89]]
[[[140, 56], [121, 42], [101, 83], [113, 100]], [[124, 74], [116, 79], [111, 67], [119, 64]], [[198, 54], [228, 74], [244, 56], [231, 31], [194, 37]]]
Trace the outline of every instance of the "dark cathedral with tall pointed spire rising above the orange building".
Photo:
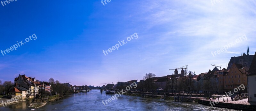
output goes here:
[[249, 44], [248, 44], [248, 47], [247, 47], [247, 54], [244, 53], [242, 56], [231, 57], [231, 59], [229, 60], [229, 63], [228, 63], [228, 69], [230, 69], [231, 66], [232, 66], [234, 63], [242, 64], [244, 67], [250, 67], [250, 66], [251, 66], [251, 63], [252, 63], [253, 57], [254, 57], [254, 55], [250, 55], [250, 52], [249, 52]]

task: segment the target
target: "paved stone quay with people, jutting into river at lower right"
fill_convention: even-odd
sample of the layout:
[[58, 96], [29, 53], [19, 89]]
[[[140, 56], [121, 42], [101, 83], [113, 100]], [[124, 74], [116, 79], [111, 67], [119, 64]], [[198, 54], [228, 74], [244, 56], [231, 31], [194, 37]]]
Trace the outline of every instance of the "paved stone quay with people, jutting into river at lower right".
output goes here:
[[248, 99], [232, 101], [232, 102], [231, 101], [223, 102], [221, 100], [223, 100], [223, 99], [220, 99], [218, 104], [216, 104], [216, 102], [214, 102], [214, 105], [213, 105], [213, 101], [211, 102], [212, 103], [212, 105], [211, 105], [210, 100], [206, 100], [206, 99], [199, 99], [198, 103], [206, 105], [206, 106], [229, 108], [229, 109], [238, 109], [238, 110], [255, 111], [255, 109], [256, 109], [256, 103], [255, 102], [248, 102]]

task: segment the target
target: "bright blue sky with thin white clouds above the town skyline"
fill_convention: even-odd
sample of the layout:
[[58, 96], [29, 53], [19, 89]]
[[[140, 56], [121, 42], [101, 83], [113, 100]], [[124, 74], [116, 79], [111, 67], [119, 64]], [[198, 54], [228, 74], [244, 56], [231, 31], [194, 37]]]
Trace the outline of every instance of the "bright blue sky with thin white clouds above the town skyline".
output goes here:
[[[211, 64], [226, 68], [231, 57], [247, 53], [247, 43], [250, 55], [256, 51], [253, 0], [106, 3], [0, 4], [0, 50], [6, 53], [0, 53], [0, 80], [14, 82], [25, 74], [40, 81], [52, 77], [72, 85], [101, 86], [140, 81], [146, 73], [171, 75], [174, 70], [169, 69], [185, 65], [198, 75], [213, 69]], [[117, 50], [116, 44], [122, 46]], [[105, 55], [103, 50], [110, 52]]]

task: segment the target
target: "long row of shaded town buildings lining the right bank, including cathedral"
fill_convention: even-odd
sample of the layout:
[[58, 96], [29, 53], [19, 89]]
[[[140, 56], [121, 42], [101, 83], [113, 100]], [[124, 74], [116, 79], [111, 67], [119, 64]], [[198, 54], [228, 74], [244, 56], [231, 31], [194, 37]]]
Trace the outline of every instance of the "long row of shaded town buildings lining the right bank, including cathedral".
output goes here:
[[[184, 71], [183, 68], [180, 74], [178, 74], [176, 68], [173, 75], [154, 77], [154, 83], [157, 87], [161, 87], [169, 92], [171, 90], [172, 92], [190, 90], [198, 93], [224, 93], [233, 91], [234, 88], [244, 84], [245, 90], [240, 92], [247, 92], [247, 74], [250, 66], [253, 66], [253, 57], [254, 55], [250, 55], [249, 53], [248, 46], [247, 55], [244, 53], [238, 57], [231, 57], [227, 68], [219, 70], [217, 67], [214, 67], [212, 70], [199, 75], [191, 74], [191, 72], [187, 74], [188, 72], [186, 70]], [[253, 72], [251, 73], [253, 75]], [[140, 83], [143, 83], [143, 81], [145, 80], [141, 80]]]

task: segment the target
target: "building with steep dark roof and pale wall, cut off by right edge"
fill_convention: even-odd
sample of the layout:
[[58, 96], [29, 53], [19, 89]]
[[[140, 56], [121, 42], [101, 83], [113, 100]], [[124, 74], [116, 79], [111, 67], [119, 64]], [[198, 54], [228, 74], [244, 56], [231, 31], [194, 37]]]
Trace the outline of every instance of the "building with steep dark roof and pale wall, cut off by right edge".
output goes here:
[[[255, 52], [256, 54], [256, 52]], [[253, 58], [251, 67], [247, 75], [248, 82], [248, 101], [256, 102], [256, 57]]]

